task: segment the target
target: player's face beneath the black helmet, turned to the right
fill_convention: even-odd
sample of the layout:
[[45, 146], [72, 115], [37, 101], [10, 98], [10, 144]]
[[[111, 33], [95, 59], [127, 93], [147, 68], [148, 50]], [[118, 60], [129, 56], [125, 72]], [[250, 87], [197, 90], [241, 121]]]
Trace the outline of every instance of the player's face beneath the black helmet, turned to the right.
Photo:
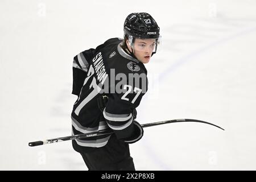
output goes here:
[[135, 39], [134, 40], [134, 55], [142, 63], [150, 61], [152, 52], [155, 50], [155, 39]]

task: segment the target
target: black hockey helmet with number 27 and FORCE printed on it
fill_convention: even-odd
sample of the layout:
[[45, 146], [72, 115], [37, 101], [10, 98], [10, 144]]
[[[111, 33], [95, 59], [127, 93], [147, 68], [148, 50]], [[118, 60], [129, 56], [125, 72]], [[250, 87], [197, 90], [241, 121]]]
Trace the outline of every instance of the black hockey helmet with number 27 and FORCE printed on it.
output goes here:
[[148, 13], [131, 13], [125, 19], [123, 30], [126, 38], [158, 39], [160, 28]]

